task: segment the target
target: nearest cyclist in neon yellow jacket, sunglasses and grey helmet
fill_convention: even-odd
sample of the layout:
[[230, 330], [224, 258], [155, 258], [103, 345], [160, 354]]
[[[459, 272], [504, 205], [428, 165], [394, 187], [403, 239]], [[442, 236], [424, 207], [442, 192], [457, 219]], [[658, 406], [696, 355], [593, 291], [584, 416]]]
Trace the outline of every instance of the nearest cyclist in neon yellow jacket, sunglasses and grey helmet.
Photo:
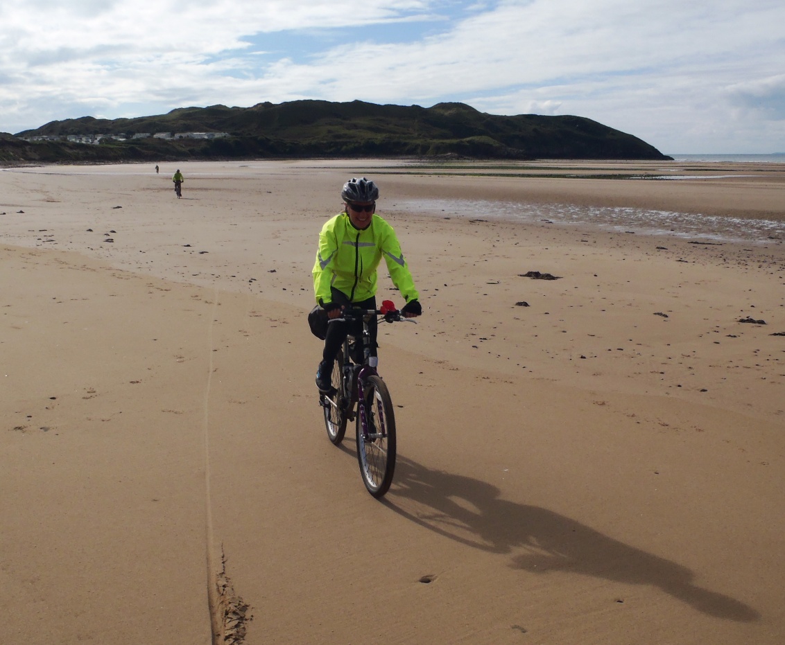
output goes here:
[[[339, 318], [343, 308], [376, 308], [377, 268], [385, 259], [392, 283], [406, 304], [401, 309], [407, 318], [422, 314], [417, 289], [400, 250], [395, 231], [376, 213], [379, 189], [365, 177], [344, 184], [341, 198], [343, 213], [327, 220], [319, 233], [319, 250], [313, 265], [316, 302], [330, 319]], [[369, 324], [371, 364], [376, 359], [376, 318]], [[330, 391], [333, 363], [343, 344], [346, 323], [330, 323], [324, 341], [322, 362], [316, 371], [316, 387]]]

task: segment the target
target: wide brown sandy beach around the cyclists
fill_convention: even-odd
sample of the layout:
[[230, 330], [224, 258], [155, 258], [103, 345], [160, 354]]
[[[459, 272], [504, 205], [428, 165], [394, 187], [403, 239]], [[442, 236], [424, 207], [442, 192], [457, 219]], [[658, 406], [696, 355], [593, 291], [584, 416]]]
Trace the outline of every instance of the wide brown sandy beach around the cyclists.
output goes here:
[[[785, 642], [785, 165], [160, 166], [0, 169], [0, 643]], [[384, 501], [305, 322], [361, 175]]]

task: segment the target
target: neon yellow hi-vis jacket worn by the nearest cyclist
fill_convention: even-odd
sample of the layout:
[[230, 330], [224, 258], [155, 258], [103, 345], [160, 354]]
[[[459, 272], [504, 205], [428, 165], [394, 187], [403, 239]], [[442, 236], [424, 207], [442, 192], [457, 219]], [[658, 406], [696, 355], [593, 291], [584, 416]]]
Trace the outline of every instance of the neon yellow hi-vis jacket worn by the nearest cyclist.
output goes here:
[[345, 293], [350, 302], [376, 295], [376, 269], [385, 258], [392, 283], [408, 302], [418, 300], [414, 280], [403, 259], [395, 231], [374, 214], [363, 231], [352, 226], [349, 215], [340, 213], [327, 220], [319, 233], [319, 250], [313, 265], [316, 302], [332, 301], [330, 287]]

